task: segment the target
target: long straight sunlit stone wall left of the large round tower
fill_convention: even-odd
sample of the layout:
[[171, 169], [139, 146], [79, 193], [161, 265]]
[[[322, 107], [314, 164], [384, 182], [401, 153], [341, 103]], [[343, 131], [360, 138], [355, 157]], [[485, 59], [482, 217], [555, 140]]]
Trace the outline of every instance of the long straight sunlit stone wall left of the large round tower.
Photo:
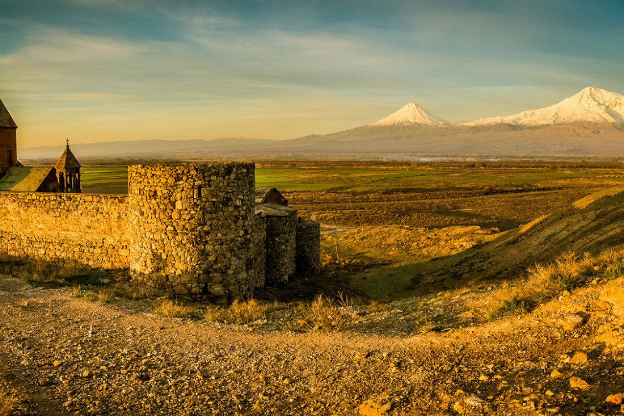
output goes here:
[[92, 267], [127, 268], [125, 196], [0, 192], [0, 251]]

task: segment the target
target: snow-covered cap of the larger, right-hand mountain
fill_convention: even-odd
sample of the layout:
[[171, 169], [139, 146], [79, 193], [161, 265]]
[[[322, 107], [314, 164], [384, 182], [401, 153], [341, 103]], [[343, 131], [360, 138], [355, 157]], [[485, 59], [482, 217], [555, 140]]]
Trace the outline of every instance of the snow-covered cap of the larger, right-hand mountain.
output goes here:
[[538, 126], [579, 122], [624, 124], [624, 95], [587, 87], [578, 94], [543, 109], [457, 124], [475, 126], [507, 123]]

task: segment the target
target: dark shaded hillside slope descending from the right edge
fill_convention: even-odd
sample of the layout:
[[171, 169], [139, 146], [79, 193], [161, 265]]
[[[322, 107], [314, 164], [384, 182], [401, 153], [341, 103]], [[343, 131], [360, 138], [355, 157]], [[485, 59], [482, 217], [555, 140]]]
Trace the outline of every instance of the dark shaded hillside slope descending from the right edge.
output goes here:
[[535, 263], [547, 263], [567, 252], [596, 254], [624, 243], [624, 188], [600, 191], [530, 228], [512, 230], [491, 243], [454, 258], [429, 262], [417, 280], [424, 293], [468, 281], [516, 278]]

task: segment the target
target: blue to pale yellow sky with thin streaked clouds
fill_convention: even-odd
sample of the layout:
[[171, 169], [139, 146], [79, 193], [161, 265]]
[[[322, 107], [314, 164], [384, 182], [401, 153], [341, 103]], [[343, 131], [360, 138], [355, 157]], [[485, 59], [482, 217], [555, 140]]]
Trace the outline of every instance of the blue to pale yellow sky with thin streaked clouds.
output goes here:
[[624, 94], [621, 0], [0, 0], [18, 147], [288, 139]]

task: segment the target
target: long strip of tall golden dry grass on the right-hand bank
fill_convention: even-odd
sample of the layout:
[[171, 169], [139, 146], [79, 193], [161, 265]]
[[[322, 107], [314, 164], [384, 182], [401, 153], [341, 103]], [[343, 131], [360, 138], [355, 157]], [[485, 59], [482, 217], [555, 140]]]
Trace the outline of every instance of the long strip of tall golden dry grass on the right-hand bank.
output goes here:
[[525, 279], [502, 283], [492, 291], [487, 304], [472, 310], [473, 315], [480, 321], [494, 321], [525, 314], [564, 291], [581, 286], [592, 276], [608, 279], [622, 276], [623, 260], [622, 247], [610, 249], [599, 256], [563, 254], [554, 263], [530, 268]]

